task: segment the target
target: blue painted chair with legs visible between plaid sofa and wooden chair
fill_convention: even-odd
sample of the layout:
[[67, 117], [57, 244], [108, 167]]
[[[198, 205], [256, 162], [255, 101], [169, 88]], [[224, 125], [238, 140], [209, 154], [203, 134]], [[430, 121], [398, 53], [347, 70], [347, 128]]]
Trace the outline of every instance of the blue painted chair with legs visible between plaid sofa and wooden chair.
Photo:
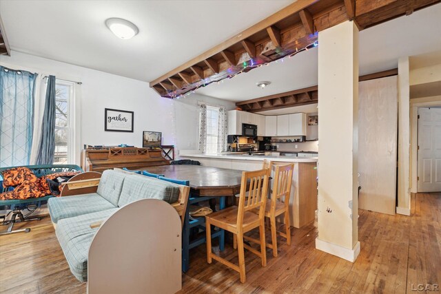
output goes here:
[[[159, 180], [166, 180], [167, 182], [174, 182], [178, 185], [189, 186], [188, 180], [175, 180], [172, 178], [165, 178], [163, 176], [159, 176]], [[189, 217], [189, 209], [192, 206], [191, 204], [196, 204], [198, 202], [210, 200], [217, 197], [192, 197], [191, 193], [189, 195], [187, 205], [187, 211], [185, 211], [185, 219], [182, 233], [182, 271], [185, 273], [189, 269], [189, 249], [192, 249], [201, 244], [205, 244], [207, 242], [206, 235], [203, 234], [201, 237], [196, 238], [190, 242], [190, 230], [192, 229], [201, 229], [205, 231], [205, 216]], [[219, 209], [225, 209], [225, 197], [220, 197]], [[219, 229], [215, 233], [212, 233], [212, 239], [219, 238], [219, 250], [223, 251], [225, 246], [225, 231]]]

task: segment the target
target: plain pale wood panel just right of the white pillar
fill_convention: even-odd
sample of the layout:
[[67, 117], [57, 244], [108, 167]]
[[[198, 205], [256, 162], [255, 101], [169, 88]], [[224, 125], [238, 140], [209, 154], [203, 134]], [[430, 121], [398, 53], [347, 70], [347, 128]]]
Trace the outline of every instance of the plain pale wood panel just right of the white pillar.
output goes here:
[[[358, 207], [394, 215], [396, 210], [397, 76], [358, 84]], [[338, 168], [338, 167], [336, 167]]]

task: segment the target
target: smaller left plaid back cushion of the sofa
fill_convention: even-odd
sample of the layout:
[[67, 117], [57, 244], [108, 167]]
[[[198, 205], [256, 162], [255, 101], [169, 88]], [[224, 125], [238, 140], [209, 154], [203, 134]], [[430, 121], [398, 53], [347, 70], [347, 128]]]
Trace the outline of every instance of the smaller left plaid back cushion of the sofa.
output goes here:
[[103, 196], [107, 201], [118, 206], [119, 196], [121, 189], [123, 188], [124, 178], [127, 176], [125, 173], [119, 171], [112, 171], [107, 169], [103, 171], [103, 176], [99, 180], [98, 190], [100, 196]]

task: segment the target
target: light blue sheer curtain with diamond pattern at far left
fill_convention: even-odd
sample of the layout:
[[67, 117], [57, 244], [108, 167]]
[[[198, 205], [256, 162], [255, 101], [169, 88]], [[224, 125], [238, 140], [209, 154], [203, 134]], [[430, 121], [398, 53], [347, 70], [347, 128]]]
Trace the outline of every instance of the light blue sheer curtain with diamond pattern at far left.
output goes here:
[[0, 66], [0, 167], [29, 164], [36, 76]]

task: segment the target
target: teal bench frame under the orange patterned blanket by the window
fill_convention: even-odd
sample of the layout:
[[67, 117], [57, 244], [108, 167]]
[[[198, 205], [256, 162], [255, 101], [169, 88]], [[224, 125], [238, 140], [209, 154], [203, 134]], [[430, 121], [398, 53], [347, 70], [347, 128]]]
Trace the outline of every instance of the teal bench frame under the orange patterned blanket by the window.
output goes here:
[[[22, 165], [21, 167], [28, 167], [37, 178], [41, 176], [45, 176], [48, 174], [59, 173], [61, 171], [83, 171], [81, 167], [78, 165]], [[0, 167], [0, 193], [11, 191], [14, 188], [8, 187], [3, 188], [3, 177], [1, 174], [3, 171], [7, 169], [12, 169], [14, 167]], [[9, 225], [6, 231], [0, 232], [0, 235], [10, 234], [10, 233], [18, 233], [18, 232], [26, 232], [30, 231], [30, 228], [13, 230], [14, 224], [16, 222], [28, 222], [30, 220], [41, 220], [41, 218], [33, 218], [23, 216], [22, 210], [28, 209], [29, 211], [34, 211], [38, 207], [41, 207], [41, 204], [45, 204], [48, 202], [48, 199], [54, 197], [52, 195], [44, 196], [41, 198], [28, 198], [28, 199], [14, 199], [14, 200], [0, 200], [0, 210], [10, 209], [12, 213], [12, 218], [10, 220], [6, 220], [6, 216], [0, 216], [0, 219], [3, 218], [3, 225]], [[19, 220], [17, 220], [19, 218]]]

